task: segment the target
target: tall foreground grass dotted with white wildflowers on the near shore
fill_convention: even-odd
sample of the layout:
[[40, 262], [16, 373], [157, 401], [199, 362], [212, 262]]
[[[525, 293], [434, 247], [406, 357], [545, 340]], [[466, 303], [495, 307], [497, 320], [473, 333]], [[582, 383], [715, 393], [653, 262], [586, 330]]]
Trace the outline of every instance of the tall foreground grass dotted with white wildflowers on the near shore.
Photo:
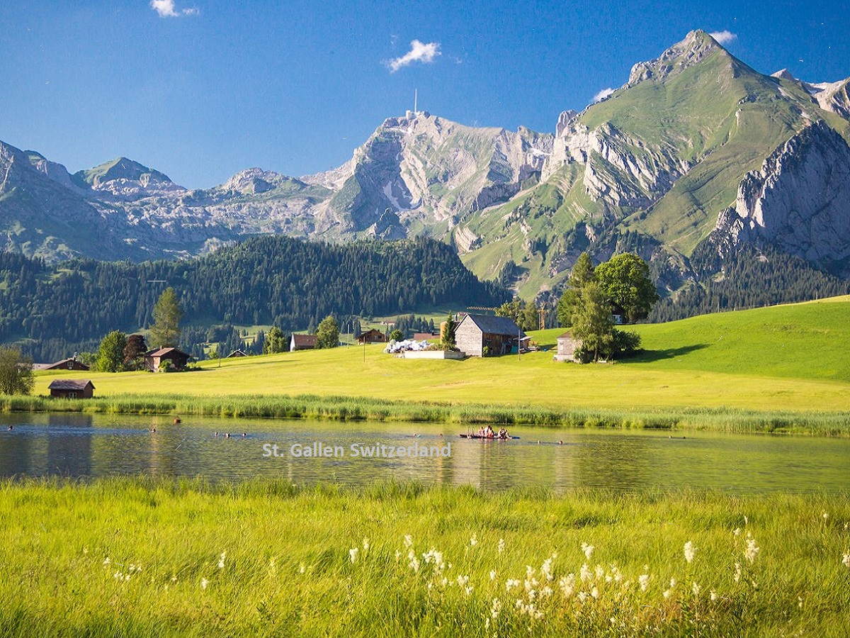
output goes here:
[[850, 496], [0, 483], [0, 635], [847, 635]]

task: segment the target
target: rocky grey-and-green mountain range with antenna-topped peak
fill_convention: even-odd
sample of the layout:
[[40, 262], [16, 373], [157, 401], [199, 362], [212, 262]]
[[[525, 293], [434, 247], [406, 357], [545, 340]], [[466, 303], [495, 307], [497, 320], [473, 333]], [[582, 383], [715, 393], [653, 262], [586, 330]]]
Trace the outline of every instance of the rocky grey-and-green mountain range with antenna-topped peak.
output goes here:
[[257, 234], [432, 236], [526, 299], [584, 250], [638, 252], [671, 293], [722, 277], [742, 247], [847, 278], [848, 83], [764, 75], [692, 31], [554, 134], [408, 111], [300, 178], [250, 168], [189, 190], [124, 157], [70, 174], [0, 142], [0, 247], [140, 261]]

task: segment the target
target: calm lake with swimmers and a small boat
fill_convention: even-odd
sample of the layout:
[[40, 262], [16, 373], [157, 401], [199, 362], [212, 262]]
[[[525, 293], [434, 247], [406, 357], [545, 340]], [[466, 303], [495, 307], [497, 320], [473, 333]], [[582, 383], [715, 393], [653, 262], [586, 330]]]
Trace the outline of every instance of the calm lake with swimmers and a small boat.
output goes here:
[[[850, 439], [519, 427], [510, 430], [520, 437], [513, 441], [457, 436], [466, 431], [456, 424], [208, 417], [173, 424], [173, 417], [164, 416], [0, 414], [0, 476], [200, 475], [229, 481], [269, 476], [297, 484], [417, 479], [558, 492], [575, 487], [846, 492], [850, 486]], [[384, 455], [364, 458], [376, 452], [376, 444], [384, 446]], [[404, 456], [390, 458], [390, 448], [399, 447]], [[411, 457], [423, 449], [428, 456]]]

